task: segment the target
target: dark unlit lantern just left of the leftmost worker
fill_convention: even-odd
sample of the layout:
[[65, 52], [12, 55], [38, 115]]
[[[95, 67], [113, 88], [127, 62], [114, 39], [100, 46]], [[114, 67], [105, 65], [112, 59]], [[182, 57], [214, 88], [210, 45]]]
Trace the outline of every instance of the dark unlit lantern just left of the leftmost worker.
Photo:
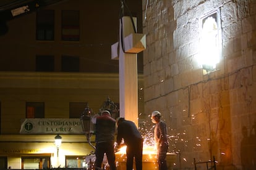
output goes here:
[[91, 136], [93, 134], [93, 123], [92, 116], [94, 115], [92, 108], [89, 108], [89, 105], [85, 106], [80, 121], [82, 124], [83, 132], [85, 133], [88, 144], [95, 149], [95, 146], [91, 143]]

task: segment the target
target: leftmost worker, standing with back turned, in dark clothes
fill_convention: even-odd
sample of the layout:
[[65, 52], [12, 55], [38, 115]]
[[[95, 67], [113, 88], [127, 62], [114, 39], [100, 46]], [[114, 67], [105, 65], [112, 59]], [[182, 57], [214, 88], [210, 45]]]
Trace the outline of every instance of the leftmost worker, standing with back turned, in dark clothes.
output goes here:
[[95, 142], [96, 142], [96, 161], [95, 169], [101, 169], [104, 154], [108, 158], [108, 164], [111, 170], [116, 169], [114, 155], [114, 134], [116, 130], [116, 120], [111, 118], [108, 110], [101, 112], [93, 121], [95, 124]]

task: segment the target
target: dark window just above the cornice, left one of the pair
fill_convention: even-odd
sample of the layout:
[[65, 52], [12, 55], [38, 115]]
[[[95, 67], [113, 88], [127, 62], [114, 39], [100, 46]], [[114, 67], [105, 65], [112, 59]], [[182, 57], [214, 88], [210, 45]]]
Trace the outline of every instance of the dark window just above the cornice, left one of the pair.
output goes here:
[[36, 55], [36, 71], [54, 71], [54, 56]]

